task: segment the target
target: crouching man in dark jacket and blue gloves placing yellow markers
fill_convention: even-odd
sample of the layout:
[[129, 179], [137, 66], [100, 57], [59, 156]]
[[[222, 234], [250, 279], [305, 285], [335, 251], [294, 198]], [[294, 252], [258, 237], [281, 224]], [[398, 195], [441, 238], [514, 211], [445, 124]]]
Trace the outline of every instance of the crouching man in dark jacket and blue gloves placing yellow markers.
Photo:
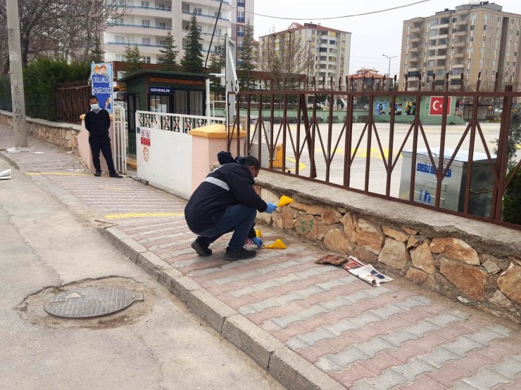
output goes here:
[[228, 152], [220, 152], [218, 157], [222, 166], [206, 176], [184, 209], [188, 227], [199, 236], [192, 248], [199, 256], [210, 256], [210, 244], [233, 232], [225, 260], [251, 259], [256, 252], [244, 248], [246, 239], [262, 246], [253, 229], [257, 211], [272, 213], [277, 205], [264, 202], [253, 190], [253, 178], [261, 169], [255, 157], [234, 160]]

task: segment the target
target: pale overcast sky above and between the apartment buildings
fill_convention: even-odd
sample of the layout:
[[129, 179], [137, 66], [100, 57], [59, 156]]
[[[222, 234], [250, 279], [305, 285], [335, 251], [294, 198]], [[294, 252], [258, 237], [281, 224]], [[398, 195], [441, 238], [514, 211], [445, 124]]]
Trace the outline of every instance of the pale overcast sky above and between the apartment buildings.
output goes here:
[[[361, 67], [375, 68], [380, 73], [389, 70], [391, 59], [391, 74], [398, 74], [400, 68], [401, 35], [403, 20], [434, 15], [445, 8], [454, 9], [468, 1], [429, 0], [406, 8], [385, 11], [372, 15], [353, 16], [332, 20], [320, 20], [341, 15], [352, 15], [384, 10], [396, 6], [415, 3], [418, 0], [256, 0], [255, 19], [253, 23], [255, 39], [270, 34], [273, 30], [285, 30], [291, 22], [314, 22], [322, 26], [351, 32], [351, 60], [349, 74]], [[490, 1], [492, 3], [492, 1]], [[503, 6], [503, 11], [521, 14], [521, 0], [498, 0], [496, 4]], [[279, 20], [266, 18], [257, 14], [292, 18]], [[315, 16], [315, 18], [309, 18]], [[293, 19], [294, 18], [294, 19]], [[307, 18], [307, 19], [299, 19]]]

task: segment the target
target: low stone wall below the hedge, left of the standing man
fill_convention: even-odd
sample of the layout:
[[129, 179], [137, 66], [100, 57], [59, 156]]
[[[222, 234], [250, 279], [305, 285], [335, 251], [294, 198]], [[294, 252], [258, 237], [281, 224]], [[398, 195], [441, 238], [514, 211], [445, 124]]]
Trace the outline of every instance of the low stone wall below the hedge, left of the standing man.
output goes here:
[[[0, 111], [0, 122], [13, 125], [13, 115], [8, 111]], [[75, 155], [80, 155], [77, 144], [77, 136], [81, 126], [61, 122], [49, 122], [44, 119], [26, 117], [28, 134], [41, 138], [62, 149], [72, 150]]]

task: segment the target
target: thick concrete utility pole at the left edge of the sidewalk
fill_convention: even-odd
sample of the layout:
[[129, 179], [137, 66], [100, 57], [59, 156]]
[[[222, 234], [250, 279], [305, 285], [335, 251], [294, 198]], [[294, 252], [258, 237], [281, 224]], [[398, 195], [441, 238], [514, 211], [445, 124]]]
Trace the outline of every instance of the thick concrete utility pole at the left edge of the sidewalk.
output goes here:
[[20, 19], [18, 18], [18, 0], [7, 0], [6, 11], [15, 147], [27, 147], [27, 124], [25, 123], [25, 99], [23, 95], [23, 71], [22, 54], [20, 50]]

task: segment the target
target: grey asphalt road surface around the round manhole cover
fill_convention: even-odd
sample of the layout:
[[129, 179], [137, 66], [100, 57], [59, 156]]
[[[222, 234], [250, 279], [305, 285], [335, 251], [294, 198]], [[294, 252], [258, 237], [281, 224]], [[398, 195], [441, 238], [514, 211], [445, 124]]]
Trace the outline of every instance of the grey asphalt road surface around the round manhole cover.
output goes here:
[[[0, 181], [0, 226], [0, 389], [282, 389], [15, 169]], [[144, 301], [101, 320], [42, 310], [52, 290], [40, 290], [78, 280], [138, 290]]]

